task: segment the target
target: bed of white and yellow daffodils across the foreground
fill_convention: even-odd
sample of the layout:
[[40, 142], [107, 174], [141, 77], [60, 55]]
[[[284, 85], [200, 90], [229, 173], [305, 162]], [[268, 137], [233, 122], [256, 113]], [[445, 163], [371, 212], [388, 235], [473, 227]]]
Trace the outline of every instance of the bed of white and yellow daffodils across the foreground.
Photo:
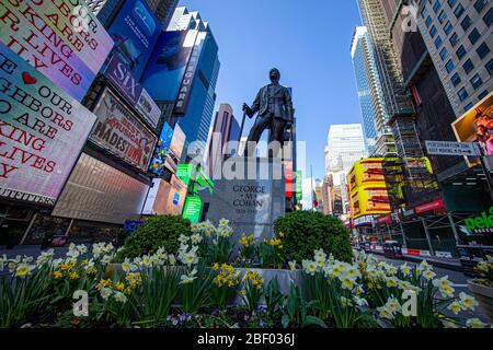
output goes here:
[[[231, 234], [226, 220], [193, 225], [175, 254], [158, 248], [123, 261], [104, 243], [92, 252], [70, 245], [60, 259], [53, 250], [3, 257], [0, 327], [486, 326], [466, 318], [475, 300], [455, 295], [425, 261], [398, 268], [354, 253], [348, 262], [322, 249], [286, 261], [283, 233], [265, 242], [244, 235], [232, 259]], [[89, 296], [87, 314], [74, 315], [74, 293]]]

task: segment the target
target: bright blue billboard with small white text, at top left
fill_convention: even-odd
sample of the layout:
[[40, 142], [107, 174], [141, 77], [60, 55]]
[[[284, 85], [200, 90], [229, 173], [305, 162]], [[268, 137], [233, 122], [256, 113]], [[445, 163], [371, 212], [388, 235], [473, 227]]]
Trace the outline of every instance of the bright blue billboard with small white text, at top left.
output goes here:
[[161, 33], [161, 24], [146, 1], [125, 1], [108, 33], [134, 77], [140, 80]]

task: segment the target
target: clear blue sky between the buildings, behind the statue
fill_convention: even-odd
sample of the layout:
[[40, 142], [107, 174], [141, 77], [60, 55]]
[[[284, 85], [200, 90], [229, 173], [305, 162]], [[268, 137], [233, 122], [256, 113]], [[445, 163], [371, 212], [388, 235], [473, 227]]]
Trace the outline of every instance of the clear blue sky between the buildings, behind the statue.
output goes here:
[[239, 120], [242, 103], [251, 104], [268, 83], [268, 70], [280, 70], [282, 84], [294, 89], [308, 172], [312, 165], [313, 177], [323, 178], [329, 126], [362, 122], [349, 55], [360, 25], [356, 0], [181, 0], [180, 5], [209, 22], [221, 61], [217, 103], [230, 103]]

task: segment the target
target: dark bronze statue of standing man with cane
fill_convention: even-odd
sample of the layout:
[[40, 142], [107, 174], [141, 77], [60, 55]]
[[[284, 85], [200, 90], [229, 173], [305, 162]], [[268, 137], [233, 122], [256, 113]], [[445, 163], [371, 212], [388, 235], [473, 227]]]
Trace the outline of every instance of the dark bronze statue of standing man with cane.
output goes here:
[[270, 72], [271, 84], [262, 88], [256, 94], [252, 107], [243, 104], [243, 112], [252, 118], [259, 113], [255, 124], [250, 130], [245, 153], [253, 156], [256, 143], [265, 129], [271, 130], [268, 143], [279, 142], [283, 147], [285, 131], [290, 129], [294, 121], [293, 101], [289, 90], [279, 84], [280, 72], [274, 68]]

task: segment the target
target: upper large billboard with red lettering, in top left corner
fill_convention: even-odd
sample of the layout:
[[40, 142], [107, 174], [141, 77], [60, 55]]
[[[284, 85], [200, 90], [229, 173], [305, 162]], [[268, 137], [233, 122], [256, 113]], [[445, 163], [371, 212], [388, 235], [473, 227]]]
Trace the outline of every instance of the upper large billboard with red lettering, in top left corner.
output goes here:
[[2, 0], [0, 42], [81, 101], [114, 42], [82, 0]]

